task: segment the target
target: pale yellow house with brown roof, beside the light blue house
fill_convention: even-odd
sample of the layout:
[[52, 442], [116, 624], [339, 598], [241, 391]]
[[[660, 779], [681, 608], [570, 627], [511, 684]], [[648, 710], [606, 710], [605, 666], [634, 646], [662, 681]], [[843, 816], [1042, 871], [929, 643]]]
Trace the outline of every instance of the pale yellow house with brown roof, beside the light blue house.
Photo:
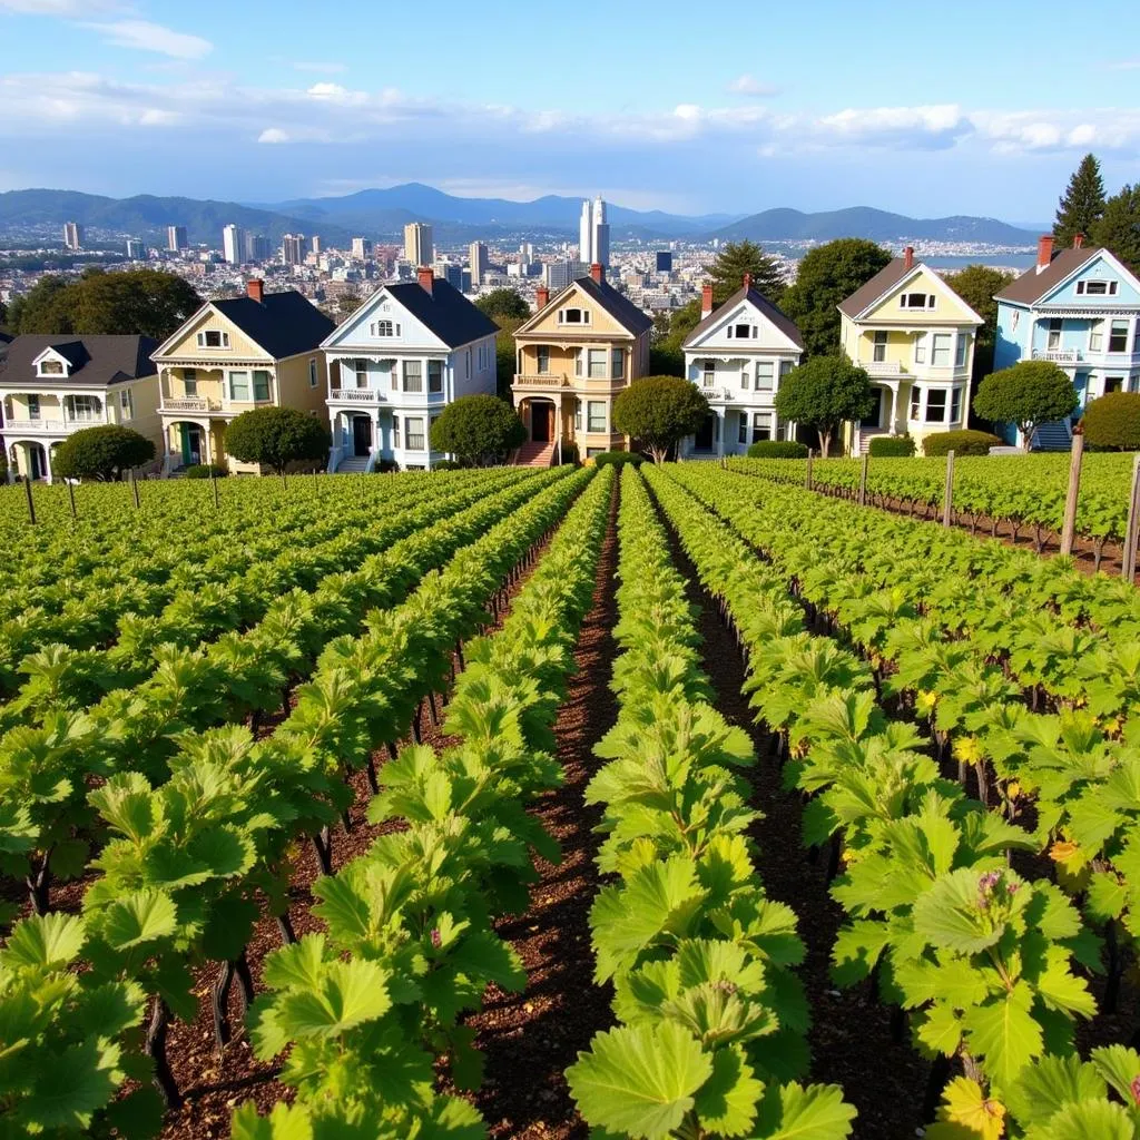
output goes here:
[[848, 424], [852, 455], [876, 435], [926, 435], [966, 426], [982, 318], [907, 246], [839, 306], [840, 343], [876, 392], [871, 415]]

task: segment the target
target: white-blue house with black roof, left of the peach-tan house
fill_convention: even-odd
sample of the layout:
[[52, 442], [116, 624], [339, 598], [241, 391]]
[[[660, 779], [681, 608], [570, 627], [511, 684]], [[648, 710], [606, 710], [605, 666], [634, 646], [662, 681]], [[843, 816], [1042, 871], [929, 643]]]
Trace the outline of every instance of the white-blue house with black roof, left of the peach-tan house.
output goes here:
[[421, 269], [382, 285], [323, 343], [329, 471], [430, 467], [432, 421], [461, 396], [495, 394], [498, 327], [458, 290]]

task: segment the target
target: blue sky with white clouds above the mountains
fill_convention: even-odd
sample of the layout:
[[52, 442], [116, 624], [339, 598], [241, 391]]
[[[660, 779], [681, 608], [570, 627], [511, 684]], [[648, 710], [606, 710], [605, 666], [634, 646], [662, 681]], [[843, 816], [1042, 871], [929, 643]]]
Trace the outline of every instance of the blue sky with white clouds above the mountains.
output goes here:
[[0, 0], [0, 189], [1044, 221], [1089, 149], [1110, 190], [1140, 177], [1140, 5], [1097, 0], [1070, 42], [1081, 11]]

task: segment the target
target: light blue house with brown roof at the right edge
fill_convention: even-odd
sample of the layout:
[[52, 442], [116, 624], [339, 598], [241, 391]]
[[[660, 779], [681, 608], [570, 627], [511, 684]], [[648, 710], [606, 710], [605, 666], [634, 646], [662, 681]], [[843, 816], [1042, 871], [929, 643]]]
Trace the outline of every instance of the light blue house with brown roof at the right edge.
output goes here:
[[[994, 298], [997, 335], [994, 369], [1019, 360], [1052, 360], [1073, 377], [1081, 417], [1090, 400], [1106, 392], [1140, 391], [1140, 279], [1108, 250], [1077, 239], [1053, 252], [1053, 239], [1037, 243], [1037, 263]], [[1007, 438], [1015, 440], [1015, 429]], [[1043, 425], [1035, 447], [1067, 448], [1072, 423]]]

